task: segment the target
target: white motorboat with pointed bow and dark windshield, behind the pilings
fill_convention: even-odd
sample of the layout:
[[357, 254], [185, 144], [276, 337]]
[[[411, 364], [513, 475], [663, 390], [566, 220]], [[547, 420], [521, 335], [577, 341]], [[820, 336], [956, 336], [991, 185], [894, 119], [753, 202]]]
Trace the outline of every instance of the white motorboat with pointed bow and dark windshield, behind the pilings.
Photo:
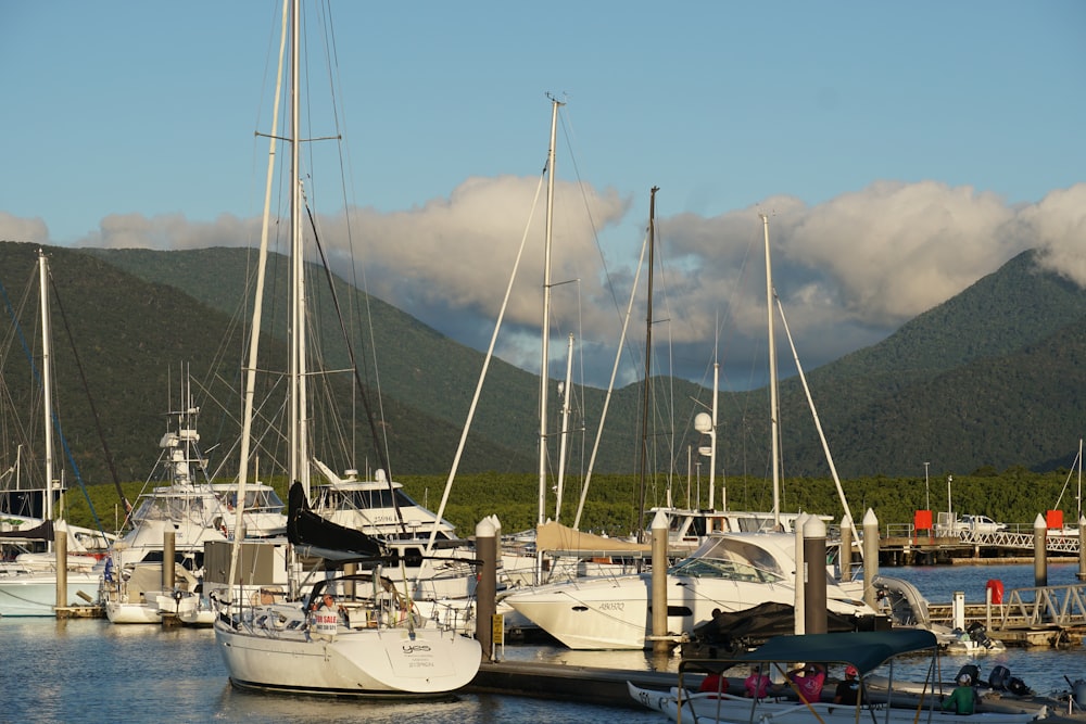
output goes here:
[[[795, 536], [717, 533], [667, 574], [668, 631], [691, 632], [714, 611], [766, 602], [794, 605]], [[845, 617], [877, 612], [828, 577], [826, 610]], [[652, 574], [573, 580], [514, 592], [503, 600], [572, 649], [651, 646]]]

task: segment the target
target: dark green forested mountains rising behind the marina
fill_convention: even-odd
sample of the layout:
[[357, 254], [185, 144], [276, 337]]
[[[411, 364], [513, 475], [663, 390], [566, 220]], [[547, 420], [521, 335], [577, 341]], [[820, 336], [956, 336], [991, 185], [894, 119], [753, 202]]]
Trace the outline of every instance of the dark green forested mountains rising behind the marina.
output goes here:
[[[15, 444], [27, 449], [40, 444], [35, 439], [40, 430], [35, 433], [33, 421], [8, 422], [34, 417], [35, 383], [10, 318], [14, 314], [21, 320], [22, 336], [35, 348], [37, 249], [0, 243], [0, 282], [9, 307], [0, 322], [5, 330], [0, 348], [4, 469]], [[236, 466], [232, 450], [245, 356], [242, 330], [251, 317], [252, 253], [61, 247], [47, 252], [56, 294], [58, 405], [67, 444], [85, 478], [92, 483], [110, 481], [100, 439], [106, 442], [122, 480], [146, 477], [156, 455], [153, 446], [165, 429], [164, 412], [177, 405], [182, 367], [201, 405], [204, 449], [212, 450], [213, 467], [225, 465], [229, 472]], [[273, 257], [261, 346], [260, 367], [265, 371], [286, 368], [287, 271], [286, 259]], [[375, 443], [365, 421], [320, 421], [317, 427], [334, 432], [338, 440], [319, 441], [318, 455], [328, 455], [326, 461], [333, 468], [372, 468], [386, 457], [378, 449], [387, 449], [394, 474], [447, 473], [483, 356], [344, 280], [336, 279], [334, 289], [333, 296], [327, 284], [311, 284], [318, 319], [314, 330], [334, 329], [340, 317], [348, 320], [344, 326], [365, 394], [349, 373], [331, 376], [328, 386], [318, 388], [316, 394], [352, 399], [359, 410], [368, 403], [381, 422]], [[1068, 465], [1082, 435], [1078, 410], [1086, 385], [1076, 372], [1078, 360], [1086, 356], [1084, 320], [1086, 292], [1038, 271], [1033, 254], [1026, 253], [880, 344], [808, 371], [839, 475], [922, 475], [925, 461], [932, 463], [933, 475], [985, 467], [1044, 470]], [[337, 335], [313, 333], [326, 369], [351, 367], [346, 345], [333, 341]], [[87, 380], [100, 425], [94, 424], [80, 377]], [[282, 384], [275, 374], [261, 379], [269, 389]], [[654, 378], [654, 405], [668, 404], [665, 393], [681, 401], [674, 409], [680, 429], [654, 433], [648, 467], [685, 477], [687, 450], [702, 444], [692, 430], [695, 410], [689, 401], [707, 404], [710, 392], [684, 380]], [[580, 407], [585, 411], [574, 424], [578, 433], [571, 435], [569, 448], [574, 461], [570, 467], [577, 470], [591, 455], [605, 392], [586, 389], [582, 397]], [[493, 360], [460, 470], [536, 469], [536, 398], [534, 376]], [[725, 475], [768, 475], [767, 398], [765, 390], [720, 395], [719, 462]], [[640, 385], [616, 391], [597, 471], [639, 470], [641, 407]], [[280, 415], [262, 410], [263, 429], [273, 430]], [[828, 475], [798, 379], [781, 385], [781, 421], [784, 474]], [[665, 440], [674, 440], [675, 453], [665, 452]], [[325, 445], [330, 449], [332, 442], [343, 441], [350, 441], [352, 459], [323, 452]], [[555, 441], [551, 443], [556, 450]], [[262, 454], [281, 455], [282, 441], [274, 435], [266, 434], [261, 444]]]

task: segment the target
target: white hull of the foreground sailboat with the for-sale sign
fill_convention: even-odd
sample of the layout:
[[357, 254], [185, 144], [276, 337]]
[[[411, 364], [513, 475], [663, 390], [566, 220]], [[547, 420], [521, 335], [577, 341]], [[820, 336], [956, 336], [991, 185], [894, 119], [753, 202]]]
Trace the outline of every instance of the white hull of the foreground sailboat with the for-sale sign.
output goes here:
[[425, 628], [350, 630], [324, 640], [217, 621], [215, 640], [235, 686], [285, 694], [443, 695], [468, 684], [482, 660], [477, 640]]

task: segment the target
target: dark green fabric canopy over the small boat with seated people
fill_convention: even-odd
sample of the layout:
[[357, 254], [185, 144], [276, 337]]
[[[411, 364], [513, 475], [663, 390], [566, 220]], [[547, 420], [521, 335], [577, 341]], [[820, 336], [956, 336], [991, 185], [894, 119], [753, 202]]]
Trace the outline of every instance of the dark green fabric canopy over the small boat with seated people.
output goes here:
[[679, 671], [720, 672], [743, 663], [813, 661], [850, 663], [862, 675], [896, 656], [924, 650], [937, 652], [938, 640], [932, 632], [919, 628], [776, 636], [753, 651], [732, 657], [685, 660], [679, 664]]

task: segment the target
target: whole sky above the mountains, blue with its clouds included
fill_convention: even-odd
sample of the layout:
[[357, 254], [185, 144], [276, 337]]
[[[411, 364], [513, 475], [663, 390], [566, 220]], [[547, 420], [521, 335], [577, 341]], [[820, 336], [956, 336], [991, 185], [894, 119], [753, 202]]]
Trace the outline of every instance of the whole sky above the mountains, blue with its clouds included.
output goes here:
[[[331, 9], [370, 291], [473, 346], [489, 340], [545, 160], [546, 92], [567, 100], [557, 178], [593, 225], [564, 228], [557, 278], [582, 281], [559, 319], [597, 353], [597, 383], [653, 186], [666, 275], [654, 316], [670, 320], [654, 336], [692, 379], [719, 355], [725, 388], [752, 383], [765, 335], [760, 212], [806, 367], [1024, 249], [1086, 279], [1081, 2]], [[0, 239], [250, 242], [239, 229], [261, 211], [254, 131], [267, 130], [277, 13], [274, 1], [0, 0]], [[522, 274], [500, 352], [538, 369], [539, 272]]]

